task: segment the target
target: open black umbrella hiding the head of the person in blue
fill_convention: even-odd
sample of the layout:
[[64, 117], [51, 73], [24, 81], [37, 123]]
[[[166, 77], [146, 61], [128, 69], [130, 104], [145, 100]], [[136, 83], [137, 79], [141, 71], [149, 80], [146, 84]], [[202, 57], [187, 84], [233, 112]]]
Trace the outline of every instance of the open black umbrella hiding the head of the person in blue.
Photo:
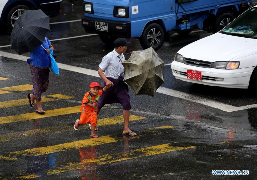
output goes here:
[[25, 11], [14, 24], [11, 49], [19, 55], [32, 52], [43, 44], [48, 31], [50, 31], [49, 17], [42, 10]]

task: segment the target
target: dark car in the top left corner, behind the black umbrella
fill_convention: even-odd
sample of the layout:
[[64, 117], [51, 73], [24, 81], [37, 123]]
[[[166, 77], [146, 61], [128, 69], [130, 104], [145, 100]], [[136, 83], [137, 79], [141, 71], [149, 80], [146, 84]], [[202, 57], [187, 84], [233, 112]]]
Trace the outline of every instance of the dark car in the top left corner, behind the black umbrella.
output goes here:
[[[61, 13], [62, 0], [1, 0], [0, 23], [12, 29], [15, 21], [26, 11], [41, 9], [48, 16]], [[2, 26], [3, 27], [3, 26]]]

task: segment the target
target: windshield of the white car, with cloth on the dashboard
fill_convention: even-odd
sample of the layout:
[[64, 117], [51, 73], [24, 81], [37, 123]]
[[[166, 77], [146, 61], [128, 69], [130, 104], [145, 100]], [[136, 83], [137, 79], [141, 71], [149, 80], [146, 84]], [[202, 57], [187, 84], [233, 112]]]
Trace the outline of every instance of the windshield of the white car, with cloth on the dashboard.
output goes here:
[[243, 13], [222, 29], [220, 33], [257, 39], [257, 7]]

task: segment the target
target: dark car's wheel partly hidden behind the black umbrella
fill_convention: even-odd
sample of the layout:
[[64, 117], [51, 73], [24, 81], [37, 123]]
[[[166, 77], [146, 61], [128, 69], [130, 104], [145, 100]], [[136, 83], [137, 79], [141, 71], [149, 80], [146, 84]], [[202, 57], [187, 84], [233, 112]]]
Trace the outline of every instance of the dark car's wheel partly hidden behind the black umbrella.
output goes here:
[[24, 5], [18, 5], [11, 9], [11, 11], [7, 15], [7, 26], [9, 30], [13, 29], [16, 20], [27, 10], [29, 10], [29, 8]]

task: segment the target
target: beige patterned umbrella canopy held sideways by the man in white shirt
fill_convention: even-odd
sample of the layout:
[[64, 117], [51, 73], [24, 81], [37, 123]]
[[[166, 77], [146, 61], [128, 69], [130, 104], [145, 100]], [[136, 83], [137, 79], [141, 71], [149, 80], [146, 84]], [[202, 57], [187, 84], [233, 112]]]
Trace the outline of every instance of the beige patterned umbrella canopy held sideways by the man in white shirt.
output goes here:
[[142, 51], [132, 51], [130, 58], [122, 62], [125, 69], [124, 80], [135, 95], [154, 96], [155, 91], [164, 83], [164, 62], [152, 47]]

